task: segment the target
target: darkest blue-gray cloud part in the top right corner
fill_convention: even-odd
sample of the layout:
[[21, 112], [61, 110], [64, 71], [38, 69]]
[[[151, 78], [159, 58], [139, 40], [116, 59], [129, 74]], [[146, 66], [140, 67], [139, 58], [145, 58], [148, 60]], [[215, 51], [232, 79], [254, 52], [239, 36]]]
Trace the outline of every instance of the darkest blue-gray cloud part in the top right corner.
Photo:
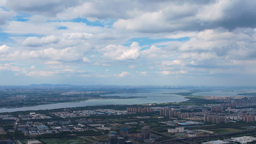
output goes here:
[[[216, 3], [218, 3], [218, 1], [215, 1], [215, 4]], [[230, 31], [235, 30], [236, 28], [256, 28], [255, 5], [256, 1], [254, 0], [228, 1], [225, 5], [218, 7], [220, 9], [213, 9], [216, 13], [221, 12], [222, 16], [214, 19], [214, 21], [211, 19], [204, 21], [199, 20], [201, 25], [197, 25], [197, 28], [199, 31], [218, 27], [223, 27]]]

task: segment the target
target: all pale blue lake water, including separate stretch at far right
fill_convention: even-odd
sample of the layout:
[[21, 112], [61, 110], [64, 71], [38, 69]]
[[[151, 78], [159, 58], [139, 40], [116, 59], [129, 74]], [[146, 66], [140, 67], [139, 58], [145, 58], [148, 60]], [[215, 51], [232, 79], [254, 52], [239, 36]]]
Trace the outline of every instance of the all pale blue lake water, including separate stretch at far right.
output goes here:
[[[163, 93], [189, 92], [190, 89], [143, 89], [138, 93], [126, 94], [109, 94], [103, 96], [146, 96], [147, 98], [130, 98], [130, 99], [89, 99], [81, 102], [65, 102], [58, 104], [37, 105], [34, 107], [21, 108], [0, 108], [0, 113], [25, 111], [25, 110], [49, 110], [57, 108], [84, 107], [88, 105], [115, 105], [115, 104], [148, 104], [148, 103], [166, 103], [166, 102], [182, 102], [187, 99], [180, 95], [171, 95]], [[241, 93], [256, 92], [256, 89], [216, 89], [210, 92], [198, 92], [193, 95], [205, 96], [243, 96], [237, 95]]]

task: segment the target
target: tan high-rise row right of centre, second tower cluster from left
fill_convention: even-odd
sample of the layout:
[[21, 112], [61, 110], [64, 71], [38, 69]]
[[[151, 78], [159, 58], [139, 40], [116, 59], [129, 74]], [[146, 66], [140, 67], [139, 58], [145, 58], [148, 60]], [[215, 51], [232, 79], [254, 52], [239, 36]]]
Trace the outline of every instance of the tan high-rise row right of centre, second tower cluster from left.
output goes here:
[[193, 117], [193, 113], [182, 113], [181, 111], [172, 110], [171, 108], [160, 108], [160, 116], [166, 116], [166, 117], [179, 117], [181, 119], [183, 118], [189, 118]]

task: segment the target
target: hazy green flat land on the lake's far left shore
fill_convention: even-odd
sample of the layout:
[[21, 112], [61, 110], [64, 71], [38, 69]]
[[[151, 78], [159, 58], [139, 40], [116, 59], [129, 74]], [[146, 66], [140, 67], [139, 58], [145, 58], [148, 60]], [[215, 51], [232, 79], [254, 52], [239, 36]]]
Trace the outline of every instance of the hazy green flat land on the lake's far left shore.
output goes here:
[[[71, 92], [69, 94], [65, 92]], [[63, 102], [79, 102], [88, 99], [124, 98], [121, 96], [102, 96], [106, 94], [136, 93], [134, 88], [84, 88], [81, 86], [71, 87], [18, 87], [5, 88], [0, 91], [0, 108], [28, 107], [43, 104], [55, 104]], [[63, 94], [65, 93], [65, 94]], [[62, 95], [63, 94], [63, 95]], [[10, 97], [25, 95], [22, 101], [10, 101]], [[129, 96], [125, 98], [138, 98]]]

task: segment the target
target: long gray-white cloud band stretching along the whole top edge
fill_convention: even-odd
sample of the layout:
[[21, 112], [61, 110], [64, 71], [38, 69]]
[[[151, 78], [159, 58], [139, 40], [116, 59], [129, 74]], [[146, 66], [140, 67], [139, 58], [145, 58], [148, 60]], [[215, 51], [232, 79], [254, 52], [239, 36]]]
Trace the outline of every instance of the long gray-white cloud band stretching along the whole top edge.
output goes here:
[[[81, 16], [84, 18], [120, 19], [123, 21], [116, 23], [115, 27], [142, 33], [177, 30], [202, 31], [218, 27], [228, 30], [235, 30], [237, 27], [255, 28], [255, 5], [256, 1], [254, 0], [12, 0], [6, 2], [7, 9], [27, 12], [32, 15], [55, 17], [57, 14], [71, 13], [73, 18]], [[154, 15], [158, 19], [154, 18]], [[152, 23], [150, 18], [158, 24]], [[136, 23], [134, 27], [129, 26], [133, 23]]]

